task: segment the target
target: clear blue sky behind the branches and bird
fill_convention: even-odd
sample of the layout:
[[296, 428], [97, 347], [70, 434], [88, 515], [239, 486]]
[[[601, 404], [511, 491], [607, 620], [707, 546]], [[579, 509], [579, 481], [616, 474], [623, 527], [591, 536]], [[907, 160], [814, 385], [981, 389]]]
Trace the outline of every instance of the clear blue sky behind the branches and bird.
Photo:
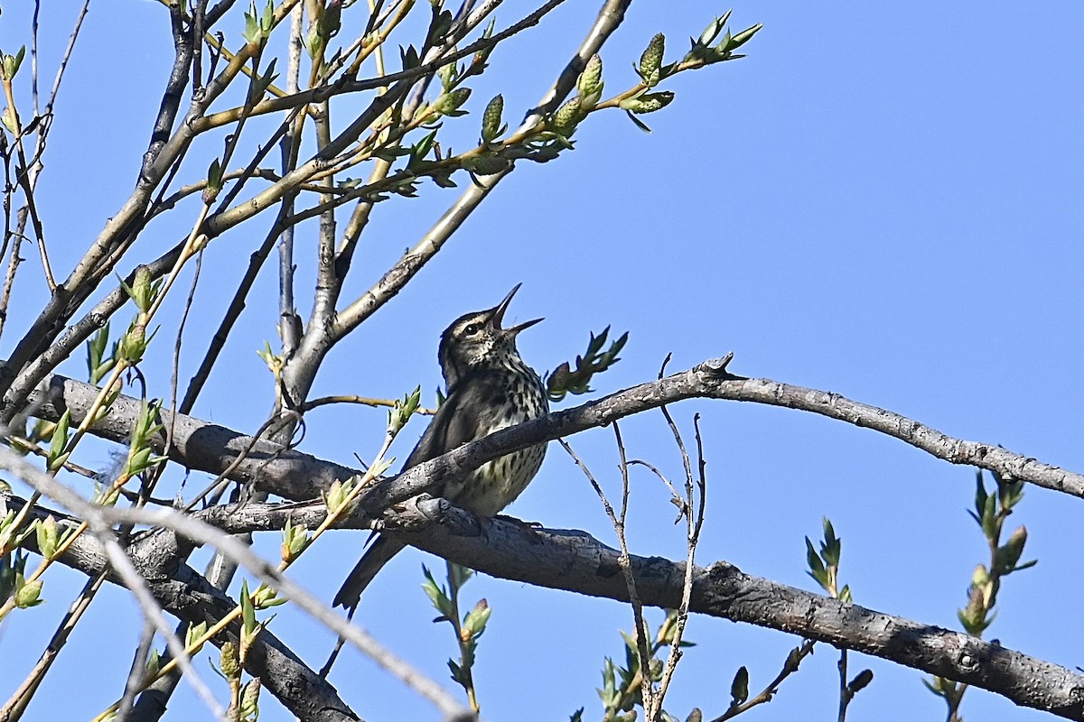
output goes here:
[[[62, 4], [47, 8], [42, 18], [49, 78], [76, 5]], [[513, 22], [530, 4], [505, 3], [499, 23]], [[513, 119], [533, 105], [597, 3], [567, 4], [494, 54], [469, 109], [480, 111], [496, 92]], [[25, 42], [25, 10], [4, 8], [4, 52]], [[634, 3], [603, 53], [607, 91], [634, 82], [630, 63], [651, 35], [667, 34], [672, 58], [725, 10], [700, 0]], [[746, 47], [747, 58], [669, 81], [676, 100], [645, 118], [650, 135], [621, 113], [601, 114], [578, 131], [575, 152], [544, 166], [521, 163], [408, 290], [336, 349], [314, 394], [398, 396], [422, 384], [431, 403], [439, 332], [522, 281], [509, 314], [546, 317], [520, 342], [540, 370], [581, 351], [590, 331], [612, 325], [630, 332], [621, 363], [597, 379], [596, 394], [654, 378], [670, 352], [676, 370], [733, 351], [735, 372], [838, 392], [951, 435], [1084, 469], [1084, 6], [921, 2], [903, 12], [885, 3], [749, 3], [734, 6], [732, 22], [735, 28], [764, 24]], [[47, 229], [59, 239], [54, 264], [65, 272], [130, 192], [171, 55], [167, 17], [156, 3], [95, 3], [85, 32], [57, 106], [39, 196]], [[463, 147], [477, 133], [476, 118], [449, 128], [452, 137], [462, 134]], [[209, 158], [219, 147], [209, 144], [201, 150], [208, 155], [196, 157]], [[186, 167], [191, 178], [203, 173], [206, 160], [199, 162]], [[352, 292], [393, 263], [453, 193], [427, 186], [416, 201], [379, 206], [354, 262]], [[176, 225], [153, 228], [133, 260], [157, 255], [185, 222], [191, 215], [182, 212]], [[235, 281], [268, 223], [259, 220], [209, 249], [182, 378], [198, 363], [201, 332], [209, 333], [224, 307], [219, 289]], [[298, 283], [311, 286], [304, 262]], [[245, 431], [266, 417], [270, 378], [255, 351], [275, 338], [275, 289], [270, 273], [261, 277], [228, 346], [231, 362], [212, 377], [197, 416]], [[34, 281], [22, 292], [30, 306], [40, 298]], [[163, 316], [167, 336], [176, 318], [176, 310]], [[0, 355], [29, 320], [16, 312]], [[171, 344], [158, 345], [146, 371], [153, 393], [163, 395]], [[82, 378], [81, 359], [63, 370]], [[727, 560], [749, 574], [814, 589], [804, 575], [803, 537], [818, 535], [827, 515], [843, 538], [841, 578], [855, 602], [958, 626], [955, 611], [985, 553], [965, 513], [973, 470], [798, 411], [718, 402], [672, 411], [689, 433], [693, 413], [704, 417], [710, 486], [701, 563]], [[423, 423], [415, 420], [404, 432], [400, 458]], [[301, 449], [349, 463], [353, 452], [375, 451], [383, 425], [383, 411], [313, 413]], [[679, 474], [661, 417], [630, 420], [623, 431], [631, 456]], [[611, 439], [609, 430], [596, 430], [572, 444], [616, 490]], [[85, 462], [102, 463], [105, 451], [89, 457]], [[190, 482], [190, 489], [202, 485]], [[1010, 523], [1027, 524], [1025, 555], [1038, 565], [1005, 581], [990, 630], [1005, 646], [1069, 667], [1081, 664], [1084, 641], [1073, 606], [1084, 591], [1079, 503], [1029, 489]], [[511, 513], [614, 542], [593, 491], [556, 446]], [[632, 520], [633, 552], [682, 553], [672, 507], [646, 475], [634, 476]], [[274, 555], [278, 543], [269, 538], [259, 548]], [[338, 533], [307, 555], [296, 577], [330, 600], [361, 544], [361, 535]], [[438, 565], [420, 552], [397, 559], [358, 619], [446, 680], [452, 640], [444, 627], [429, 625], [422, 562]], [[22, 613], [0, 632], [5, 659], [18, 658], [0, 670], [4, 696], [79, 585], [74, 574], [54, 573], [46, 593], [51, 604]], [[464, 594], [485, 596], [494, 607], [476, 672], [488, 719], [567, 719], [581, 706], [585, 719], [596, 718], [594, 687], [603, 657], [623, 654], [617, 630], [631, 625], [627, 607], [488, 578], [470, 582]], [[280, 609], [274, 631], [319, 666], [331, 635]], [[119, 665], [103, 665], [94, 648], [134, 648], [138, 633], [127, 595], [104, 593], [47, 683], [54, 692], [43, 691], [30, 708], [31, 719], [61, 709], [50, 698], [59, 699], [62, 686], [81, 690], [78, 708], [65, 708], [73, 717], [104, 708], [122, 687], [129, 653], [118, 654]], [[668, 709], [682, 718], [694, 705], [720, 713], [741, 665], [759, 690], [798, 644], [718, 619], [694, 619], [688, 639], [698, 646], [687, 652], [668, 697]], [[818, 647], [776, 699], [750, 716], [833, 718], [836, 659], [830, 647]], [[851, 665], [876, 674], [851, 719], [943, 714], [918, 672], [856, 655]], [[352, 652], [332, 681], [366, 719], [437, 719]], [[182, 687], [171, 713], [183, 719], [196, 705]], [[968, 693], [964, 714], [1040, 717], [981, 691]], [[268, 700], [261, 719], [287, 717]]]

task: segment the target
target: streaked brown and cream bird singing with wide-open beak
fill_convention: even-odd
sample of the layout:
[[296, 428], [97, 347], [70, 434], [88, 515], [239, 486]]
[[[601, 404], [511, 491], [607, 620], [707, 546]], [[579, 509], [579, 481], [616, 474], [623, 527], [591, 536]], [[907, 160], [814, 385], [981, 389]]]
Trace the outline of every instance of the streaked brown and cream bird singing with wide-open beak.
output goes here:
[[[519, 356], [516, 337], [541, 318], [503, 328], [505, 311], [522, 284], [492, 309], [460, 316], [440, 337], [438, 359], [447, 396], [403, 464], [403, 471], [505, 426], [550, 412], [545, 386]], [[545, 444], [487, 461], [462, 478], [433, 490], [479, 516], [494, 516], [534, 478]], [[335, 605], [354, 609], [377, 572], [403, 542], [378, 535], [335, 595]]]

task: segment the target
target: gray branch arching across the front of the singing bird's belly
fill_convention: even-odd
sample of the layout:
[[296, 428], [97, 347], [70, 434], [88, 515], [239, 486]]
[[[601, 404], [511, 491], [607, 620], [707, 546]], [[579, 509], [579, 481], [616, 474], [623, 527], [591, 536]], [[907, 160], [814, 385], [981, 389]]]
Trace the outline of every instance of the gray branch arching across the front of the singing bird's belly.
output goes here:
[[[499, 431], [374, 485], [362, 496], [361, 506], [371, 513], [378, 514], [392, 503], [421, 494], [449, 477], [477, 469], [486, 461], [508, 451], [603, 426], [627, 416], [686, 398], [751, 402], [820, 413], [879, 431], [951, 463], [988, 469], [1006, 477], [1084, 498], [1084, 475], [992, 444], [954, 438], [899, 413], [853, 402], [836, 393], [769, 379], [735, 377], [726, 370], [727, 360], [710, 359], [658, 381], [632, 386], [597, 401]], [[50, 377], [48, 384], [50, 394], [36, 396], [35, 401], [41, 402], [36, 413], [49, 420], [55, 421], [64, 408], [72, 410], [74, 420], [81, 420], [96, 394], [96, 389], [89, 384], [59, 376]], [[138, 410], [138, 401], [121, 396], [109, 415], [95, 424], [92, 432], [104, 438], [122, 442], [128, 436]], [[163, 417], [168, 424], [168, 411], [163, 411]], [[221, 473], [250, 442], [249, 437], [238, 432], [194, 417], [177, 415], [176, 419], [170, 458], [189, 469]], [[236, 481], [257, 481], [266, 491], [301, 501], [317, 497], [333, 481], [358, 473], [361, 472], [283, 449], [269, 442], [258, 442], [248, 457], [236, 464], [230, 477]]]

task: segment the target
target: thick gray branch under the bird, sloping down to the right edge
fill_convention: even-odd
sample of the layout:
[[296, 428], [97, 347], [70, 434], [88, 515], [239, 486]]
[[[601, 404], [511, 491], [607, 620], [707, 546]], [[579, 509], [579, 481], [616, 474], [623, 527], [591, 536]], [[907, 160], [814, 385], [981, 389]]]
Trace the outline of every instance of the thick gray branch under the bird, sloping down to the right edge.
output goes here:
[[[219, 507], [199, 516], [230, 533], [314, 526], [322, 503]], [[353, 523], [357, 523], [357, 518]], [[538, 587], [628, 601], [619, 552], [583, 531], [534, 529], [515, 520], [479, 521], [444, 499], [423, 497], [389, 515], [385, 531], [411, 546]], [[675, 608], [685, 565], [631, 557], [641, 601]], [[1017, 705], [1084, 719], [1084, 675], [963, 632], [924, 625], [744, 574], [718, 562], [693, 573], [689, 609], [856, 649], [1003, 695]]]

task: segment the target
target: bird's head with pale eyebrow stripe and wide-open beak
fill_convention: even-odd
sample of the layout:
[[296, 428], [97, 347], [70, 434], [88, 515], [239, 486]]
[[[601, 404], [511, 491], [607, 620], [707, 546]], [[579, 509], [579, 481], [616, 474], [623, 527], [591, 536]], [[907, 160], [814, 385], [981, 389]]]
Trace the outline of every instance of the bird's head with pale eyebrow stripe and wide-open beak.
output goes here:
[[516, 336], [542, 320], [534, 318], [512, 328], [503, 328], [504, 312], [512, 302], [512, 297], [519, 290], [517, 284], [504, 300], [492, 309], [475, 311], [460, 316], [444, 329], [440, 337], [440, 369], [444, 375], [444, 383], [451, 390], [455, 382], [470, 369], [485, 366], [500, 366], [515, 357]]

